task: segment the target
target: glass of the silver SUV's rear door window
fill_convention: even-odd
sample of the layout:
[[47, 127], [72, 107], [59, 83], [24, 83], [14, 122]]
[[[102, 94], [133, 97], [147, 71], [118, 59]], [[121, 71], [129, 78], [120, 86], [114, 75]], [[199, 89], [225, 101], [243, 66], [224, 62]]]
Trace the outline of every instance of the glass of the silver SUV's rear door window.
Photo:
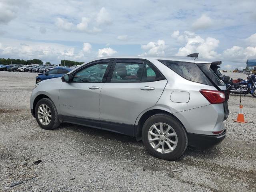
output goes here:
[[163, 76], [146, 61], [140, 60], [140, 63], [136, 63], [121, 60], [116, 62], [111, 82], [151, 82], [163, 79]]

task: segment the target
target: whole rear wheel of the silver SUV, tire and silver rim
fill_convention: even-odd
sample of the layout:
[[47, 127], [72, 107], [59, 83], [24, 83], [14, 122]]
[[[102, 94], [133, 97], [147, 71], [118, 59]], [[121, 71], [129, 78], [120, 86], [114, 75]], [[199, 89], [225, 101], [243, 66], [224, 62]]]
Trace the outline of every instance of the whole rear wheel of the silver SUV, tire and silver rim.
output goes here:
[[142, 128], [142, 140], [153, 156], [164, 160], [179, 158], [188, 146], [185, 128], [168, 114], [148, 118]]

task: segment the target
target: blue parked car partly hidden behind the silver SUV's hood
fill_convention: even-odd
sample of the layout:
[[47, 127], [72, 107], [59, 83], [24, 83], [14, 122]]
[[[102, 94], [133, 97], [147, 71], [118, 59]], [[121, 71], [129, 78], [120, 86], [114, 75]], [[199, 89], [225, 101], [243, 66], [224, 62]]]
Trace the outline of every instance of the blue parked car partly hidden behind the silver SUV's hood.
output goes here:
[[61, 77], [64, 74], [67, 74], [68, 72], [70, 72], [71, 70], [72, 69], [65, 68], [65, 67], [52, 68], [50, 71], [45, 72], [44, 74], [38, 74], [38, 76], [36, 77], [36, 83], [39, 83], [39, 82], [41, 82], [43, 80], [46, 80], [46, 79]]

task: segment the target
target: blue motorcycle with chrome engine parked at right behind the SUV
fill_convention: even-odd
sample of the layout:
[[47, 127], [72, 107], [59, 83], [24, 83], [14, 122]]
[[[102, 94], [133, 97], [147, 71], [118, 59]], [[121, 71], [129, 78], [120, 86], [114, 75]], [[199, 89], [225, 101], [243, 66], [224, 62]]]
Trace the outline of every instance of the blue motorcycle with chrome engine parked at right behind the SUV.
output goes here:
[[256, 78], [255, 75], [248, 74], [246, 80], [237, 79], [232, 80], [230, 79], [229, 82], [226, 83], [226, 88], [229, 90], [230, 93], [236, 94], [252, 94], [253, 97], [256, 97]]

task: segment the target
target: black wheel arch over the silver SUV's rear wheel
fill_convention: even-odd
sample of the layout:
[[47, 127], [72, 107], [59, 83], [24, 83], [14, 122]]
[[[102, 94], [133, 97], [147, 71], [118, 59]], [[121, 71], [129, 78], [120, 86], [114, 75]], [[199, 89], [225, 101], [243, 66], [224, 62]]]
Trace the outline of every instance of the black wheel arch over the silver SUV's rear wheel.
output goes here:
[[[173, 114], [171, 114], [170, 112], [166, 111], [166, 110], [162, 110], [162, 109], [152, 109], [152, 110], [148, 110], [146, 112], [144, 112], [144, 114], [142, 114], [140, 116], [140, 118], [138, 118], [138, 124], [135, 125], [135, 130], [134, 130], [134, 135], [136, 137], [137, 141], [142, 140], [141, 136], [142, 136], [142, 127], [145, 123], [145, 121], [150, 118], [151, 116], [155, 115], [155, 114], [168, 114], [170, 116], [172, 116], [174, 119], [176, 119], [178, 122], [180, 122], [180, 124], [182, 124], [182, 122]], [[182, 126], [184, 127], [186, 133], [187, 130], [185, 128], [185, 126], [182, 124]]]

